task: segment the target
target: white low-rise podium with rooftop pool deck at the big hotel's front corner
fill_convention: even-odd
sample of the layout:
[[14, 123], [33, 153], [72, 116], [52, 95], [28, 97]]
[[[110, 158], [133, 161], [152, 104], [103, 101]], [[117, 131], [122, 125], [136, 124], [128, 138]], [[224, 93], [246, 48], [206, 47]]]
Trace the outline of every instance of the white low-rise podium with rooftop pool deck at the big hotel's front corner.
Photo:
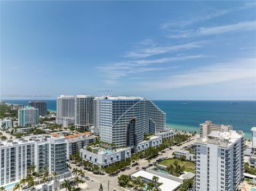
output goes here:
[[84, 147], [80, 150], [83, 160], [89, 161], [99, 167], [107, 167], [117, 161], [125, 161], [131, 157], [131, 147], [125, 148], [102, 148], [99, 146]]

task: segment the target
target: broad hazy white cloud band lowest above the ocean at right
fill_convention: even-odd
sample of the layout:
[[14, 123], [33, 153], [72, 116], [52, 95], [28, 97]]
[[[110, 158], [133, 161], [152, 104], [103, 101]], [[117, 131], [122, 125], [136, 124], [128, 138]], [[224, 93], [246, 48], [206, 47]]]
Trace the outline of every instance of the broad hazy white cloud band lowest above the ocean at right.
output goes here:
[[[218, 63], [209, 67], [187, 71], [182, 74], [165, 77], [162, 80], [152, 82], [140, 82], [145, 90], [173, 89], [189, 86], [202, 86], [210, 84], [221, 84], [226, 81], [256, 77], [256, 59], [243, 59], [231, 63]], [[239, 87], [237, 87], [239, 88]]]

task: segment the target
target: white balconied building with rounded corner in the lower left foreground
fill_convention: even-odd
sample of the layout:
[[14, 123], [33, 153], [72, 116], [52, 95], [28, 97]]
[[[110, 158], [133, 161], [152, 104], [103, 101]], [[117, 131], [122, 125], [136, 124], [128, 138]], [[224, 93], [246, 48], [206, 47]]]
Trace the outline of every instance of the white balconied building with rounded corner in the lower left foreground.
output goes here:
[[30, 165], [36, 172], [57, 172], [57, 180], [71, 177], [67, 168], [67, 142], [64, 137], [28, 136], [0, 143], [0, 186], [10, 187], [27, 176]]

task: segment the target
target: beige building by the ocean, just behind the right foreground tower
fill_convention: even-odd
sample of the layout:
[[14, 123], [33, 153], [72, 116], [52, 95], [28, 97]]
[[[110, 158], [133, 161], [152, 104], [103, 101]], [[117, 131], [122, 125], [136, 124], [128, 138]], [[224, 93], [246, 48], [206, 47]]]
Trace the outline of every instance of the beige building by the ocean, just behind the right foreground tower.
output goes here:
[[209, 135], [212, 131], [228, 132], [233, 130], [233, 126], [226, 124], [212, 124], [212, 121], [205, 121], [205, 123], [199, 124], [200, 137]]

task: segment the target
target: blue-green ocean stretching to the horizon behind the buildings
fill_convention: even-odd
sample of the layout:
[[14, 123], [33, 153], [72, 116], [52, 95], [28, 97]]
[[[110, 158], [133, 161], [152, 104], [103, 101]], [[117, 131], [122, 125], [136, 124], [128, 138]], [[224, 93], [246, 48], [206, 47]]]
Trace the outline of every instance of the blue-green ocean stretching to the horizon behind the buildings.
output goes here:
[[[47, 110], [56, 111], [56, 100], [45, 100]], [[6, 100], [7, 104], [28, 105], [29, 100]], [[256, 127], [256, 101], [153, 101], [166, 113], [166, 126], [177, 130], [197, 131], [199, 123], [211, 120], [217, 124], [233, 125], [251, 139]], [[238, 104], [230, 104], [238, 103]]]

